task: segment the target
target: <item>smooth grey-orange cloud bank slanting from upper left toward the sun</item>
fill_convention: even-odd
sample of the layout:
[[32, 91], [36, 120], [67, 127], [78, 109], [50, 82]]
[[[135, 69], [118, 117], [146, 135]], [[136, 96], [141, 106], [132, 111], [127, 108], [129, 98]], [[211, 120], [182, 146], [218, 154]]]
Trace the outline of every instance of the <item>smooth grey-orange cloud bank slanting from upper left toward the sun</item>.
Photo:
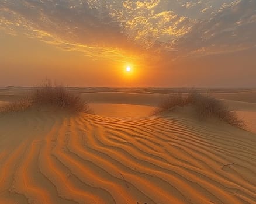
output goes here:
[[99, 11], [85, 1], [2, 1], [0, 16], [6, 33], [23, 33], [95, 58], [113, 55], [124, 60], [133, 57], [130, 50], [136, 50], [118, 24], [99, 19]]

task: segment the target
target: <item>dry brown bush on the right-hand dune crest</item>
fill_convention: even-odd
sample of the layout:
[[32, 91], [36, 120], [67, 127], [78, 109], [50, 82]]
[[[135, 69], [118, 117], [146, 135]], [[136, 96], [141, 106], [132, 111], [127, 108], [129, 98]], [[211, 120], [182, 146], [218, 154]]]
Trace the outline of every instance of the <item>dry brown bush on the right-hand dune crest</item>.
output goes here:
[[231, 111], [224, 101], [215, 99], [209, 95], [205, 96], [196, 92], [196, 90], [189, 90], [186, 95], [171, 94], [165, 97], [158, 108], [154, 110], [153, 115], [171, 111], [177, 106], [184, 107], [188, 104], [192, 104], [195, 107], [200, 120], [216, 117], [238, 128], [244, 128], [245, 126], [243, 119], [238, 118], [236, 112]]

